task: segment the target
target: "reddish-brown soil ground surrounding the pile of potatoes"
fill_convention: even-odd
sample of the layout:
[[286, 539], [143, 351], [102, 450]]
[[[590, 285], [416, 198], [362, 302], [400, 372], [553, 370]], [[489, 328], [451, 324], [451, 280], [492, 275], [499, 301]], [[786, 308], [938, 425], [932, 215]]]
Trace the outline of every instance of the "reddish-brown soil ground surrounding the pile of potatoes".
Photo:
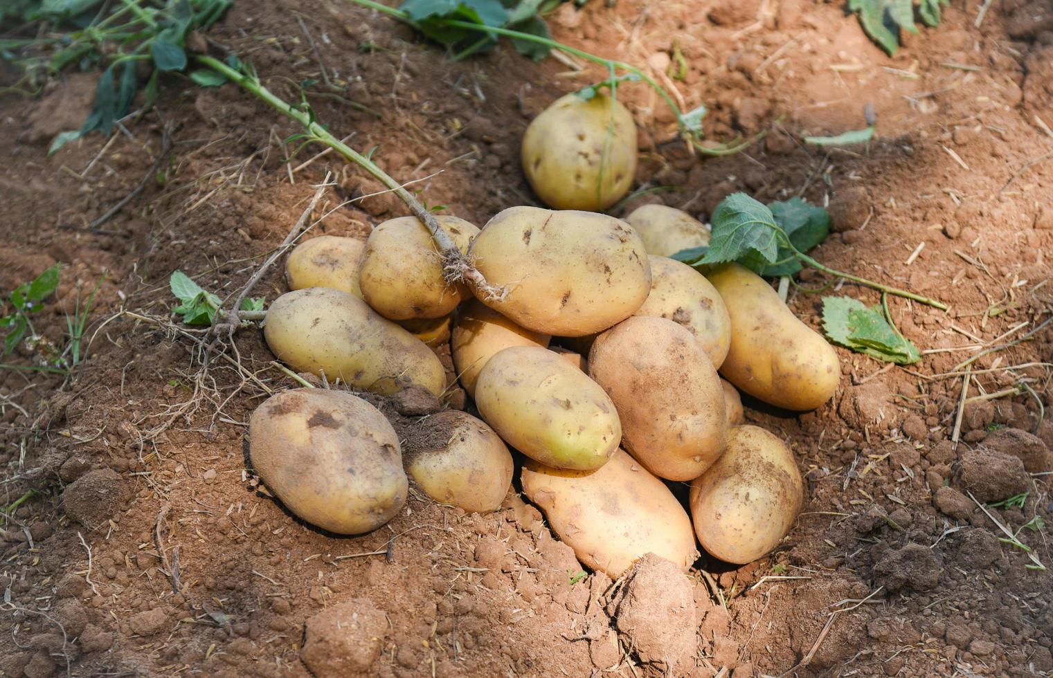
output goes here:
[[[818, 260], [951, 306], [890, 299], [923, 360], [890, 367], [839, 348], [841, 387], [817, 412], [747, 399], [747, 420], [791, 443], [804, 510], [769, 556], [703, 559], [690, 578], [653, 559], [616, 584], [584, 573], [514, 493], [496, 514], [464, 515], [414, 490], [389, 525], [354, 538], [292, 518], [246, 473], [244, 436], [253, 407], [295, 382], [255, 328], [238, 334], [235, 362], [203, 370], [208, 337], [173, 324], [168, 275], [236, 294], [326, 172], [337, 186], [315, 234], [361, 237], [402, 206], [390, 194], [347, 203], [378, 185], [332, 155], [312, 159], [318, 148], [290, 159], [294, 126], [233, 85], [168, 78], [157, 108], [113, 140], [51, 157], [95, 76], [2, 95], [0, 290], [63, 262], [35, 318], [58, 344], [78, 290], [103, 280], [71, 377], [0, 371], [2, 502], [35, 491], [0, 532], [2, 675], [1047, 675], [1053, 577], [1031, 557], [1053, 566], [1053, 505], [1048, 476], [1029, 476], [1021, 457], [1050, 470], [1053, 336], [1032, 331], [1053, 298], [1053, 23], [1046, 0], [982, 3], [979, 27], [981, 3], [952, 4], [895, 58], [841, 3], [622, 0], [552, 17], [558, 39], [647, 65], [684, 108], [709, 106], [710, 139], [768, 133], [738, 155], [692, 156], [660, 100], [619, 88], [641, 133], [636, 185], [677, 188], [643, 201], [702, 218], [734, 191], [829, 204], [835, 233]], [[310, 98], [330, 128], [379, 144], [379, 163], [429, 204], [479, 225], [535, 204], [524, 127], [603, 76], [503, 45], [448, 63], [338, 0], [239, 1], [211, 37], [286, 99], [327, 78], [334, 88], [311, 85]], [[878, 120], [868, 146], [801, 143], [863, 126], [867, 102]], [[284, 288], [275, 270], [257, 292]], [[791, 292], [790, 304], [818, 326], [820, 295]], [[48, 351], [21, 346], [7, 362]], [[1028, 494], [985, 512], [967, 492]]]

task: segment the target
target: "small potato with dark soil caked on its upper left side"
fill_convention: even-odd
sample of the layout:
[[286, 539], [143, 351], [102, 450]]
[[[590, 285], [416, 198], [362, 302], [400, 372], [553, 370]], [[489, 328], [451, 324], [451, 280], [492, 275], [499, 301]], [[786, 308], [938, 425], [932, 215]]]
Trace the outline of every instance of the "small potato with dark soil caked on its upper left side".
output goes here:
[[403, 445], [405, 468], [432, 499], [496, 511], [512, 485], [512, 454], [494, 430], [448, 410], [425, 417]]

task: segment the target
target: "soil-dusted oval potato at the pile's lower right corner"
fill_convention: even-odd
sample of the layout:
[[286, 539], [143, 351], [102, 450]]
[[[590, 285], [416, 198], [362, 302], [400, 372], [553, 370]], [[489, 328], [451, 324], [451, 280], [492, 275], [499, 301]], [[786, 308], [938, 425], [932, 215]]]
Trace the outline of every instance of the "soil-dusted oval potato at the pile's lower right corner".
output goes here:
[[691, 518], [702, 547], [746, 564], [774, 549], [790, 532], [804, 483], [793, 454], [758, 426], [728, 432], [728, 450], [691, 483]]

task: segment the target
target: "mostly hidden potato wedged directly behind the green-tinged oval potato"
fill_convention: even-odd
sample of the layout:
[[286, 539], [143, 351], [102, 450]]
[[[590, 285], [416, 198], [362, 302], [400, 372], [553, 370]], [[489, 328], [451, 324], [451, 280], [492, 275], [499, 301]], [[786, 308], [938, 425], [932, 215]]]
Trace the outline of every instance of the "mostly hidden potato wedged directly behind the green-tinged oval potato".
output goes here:
[[450, 346], [461, 385], [474, 397], [479, 373], [495, 353], [510, 346], [543, 348], [549, 345], [550, 339], [549, 335], [523, 330], [478, 299], [473, 299], [457, 312]]

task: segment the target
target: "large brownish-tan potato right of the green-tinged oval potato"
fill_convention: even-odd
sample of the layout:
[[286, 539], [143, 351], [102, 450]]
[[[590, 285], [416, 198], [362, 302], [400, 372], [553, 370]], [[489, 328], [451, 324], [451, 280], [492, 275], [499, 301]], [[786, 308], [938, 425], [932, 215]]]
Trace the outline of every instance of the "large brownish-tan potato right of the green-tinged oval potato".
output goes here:
[[723, 452], [720, 378], [681, 325], [651, 316], [618, 323], [596, 338], [589, 375], [618, 411], [621, 444], [654, 475], [692, 480]]

